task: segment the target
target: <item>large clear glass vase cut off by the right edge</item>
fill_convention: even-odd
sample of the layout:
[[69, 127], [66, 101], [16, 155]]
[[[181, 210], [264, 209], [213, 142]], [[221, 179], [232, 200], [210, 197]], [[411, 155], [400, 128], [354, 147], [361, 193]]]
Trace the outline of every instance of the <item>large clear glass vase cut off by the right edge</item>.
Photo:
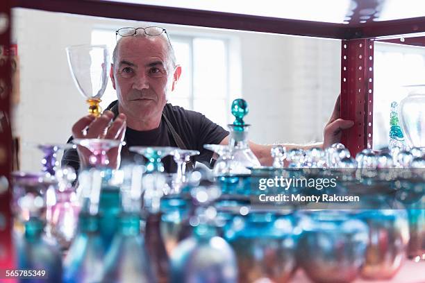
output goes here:
[[425, 153], [425, 85], [410, 86], [412, 91], [400, 102], [401, 128], [410, 148]]

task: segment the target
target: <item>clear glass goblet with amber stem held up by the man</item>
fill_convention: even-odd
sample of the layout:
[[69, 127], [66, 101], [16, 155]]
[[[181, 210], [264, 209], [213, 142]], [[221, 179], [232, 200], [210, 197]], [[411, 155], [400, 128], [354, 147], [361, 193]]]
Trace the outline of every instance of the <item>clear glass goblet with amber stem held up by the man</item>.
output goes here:
[[108, 84], [110, 60], [106, 45], [76, 45], [66, 48], [68, 65], [78, 91], [86, 98], [89, 113], [99, 117], [99, 103]]

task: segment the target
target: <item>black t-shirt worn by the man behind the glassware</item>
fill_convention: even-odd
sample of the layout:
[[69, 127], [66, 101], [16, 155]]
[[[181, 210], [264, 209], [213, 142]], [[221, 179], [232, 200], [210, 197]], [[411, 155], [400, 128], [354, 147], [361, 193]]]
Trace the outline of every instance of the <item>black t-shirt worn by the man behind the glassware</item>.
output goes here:
[[[111, 103], [107, 109], [113, 108], [113, 112], [117, 115], [117, 101]], [[115, 111], [114, 111], [115, 110]], [[179, 106], [173, 106], [167, 103], [164, 107], [163, 114], [171, 122], [174, 130], [181, 137], [183, 143], [188, 149], [197, 150], [201, 154], [195, 156], [192, 161], [202, 162], [210, 166], [213, 152], [203, 148], [204, 144], [219, 144], [224, 137], [228, 135], [228, 131], [221, 126], [213, 123], [203, 114], [190, 110], [185, 110]], [[167, 126], [164, 117], [160, 121], [160, 126], [153, 130], [138, 131], [126, 128], [124, 137], [126, 146], [121, 151], [122, 164], [133, 162], [135, 153], [128, 151], [130, 146], [174, 146], [178, 147], [171, 130]], [[72, 137], [68, 139], [68, 143], [72, 141]], [[137, 157], [136, 157], [137, 158]], [[62, 158], [62, 166], [68, 165], [74, 167], [78, 171], [80, 164], [76, 149], [68, 149]], [[163, 159], [165, 171], [175, 172], [176, 163], [171, 156]]]

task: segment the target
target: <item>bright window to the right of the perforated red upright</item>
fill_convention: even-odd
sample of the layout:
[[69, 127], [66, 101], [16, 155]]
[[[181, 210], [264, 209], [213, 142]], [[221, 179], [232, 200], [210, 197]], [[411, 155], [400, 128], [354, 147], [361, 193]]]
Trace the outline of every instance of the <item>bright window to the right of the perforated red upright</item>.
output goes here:
[[388, 146], [390, 105], [400, 103], [410, 91], [406, 85], [425, 84], [425, 49], [375, 42], [374, 149]]

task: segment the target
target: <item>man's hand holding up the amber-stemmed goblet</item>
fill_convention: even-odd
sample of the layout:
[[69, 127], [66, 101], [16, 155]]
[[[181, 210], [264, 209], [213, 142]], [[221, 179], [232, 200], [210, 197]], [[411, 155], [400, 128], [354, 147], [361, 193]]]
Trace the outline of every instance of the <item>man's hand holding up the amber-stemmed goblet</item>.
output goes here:
[[[92, 115], [85, 116], [72, 126], [72, 137], [74, 137], [74, 139], [117, 139], [123, 141], [126, 132], [126, 115], [120, 113], [117, 119], [109, 126], [113, 118], [114, 114], [109, 110], [103, 112], [99, 118]], [[111, 148], [110, 151], [108, 151], [110, 168], [118, 168], [120, 151], [121, 145]], [[89, 157], [91, 155], [88, 148], [77, 146], [77, 152], [80, 157], [81, 168], [88, 166], [90, 164]]]

